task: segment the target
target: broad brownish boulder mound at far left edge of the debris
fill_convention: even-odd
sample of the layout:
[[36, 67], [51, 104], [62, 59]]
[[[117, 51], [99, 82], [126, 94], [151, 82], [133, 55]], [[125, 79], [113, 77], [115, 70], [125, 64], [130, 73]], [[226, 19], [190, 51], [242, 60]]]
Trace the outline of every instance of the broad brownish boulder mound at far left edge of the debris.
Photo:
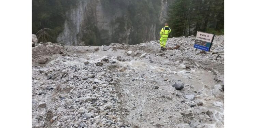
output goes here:
[[49, 45], [44, 45], [44, 44], [38, 44], [36, 47], [32, 47], [32, 58], [40, 58], [42, 56], [48, 56], [50, 54], [62, 54], [64, 53], [65, 49], [61, 45], [57, 44], [49, 44]]

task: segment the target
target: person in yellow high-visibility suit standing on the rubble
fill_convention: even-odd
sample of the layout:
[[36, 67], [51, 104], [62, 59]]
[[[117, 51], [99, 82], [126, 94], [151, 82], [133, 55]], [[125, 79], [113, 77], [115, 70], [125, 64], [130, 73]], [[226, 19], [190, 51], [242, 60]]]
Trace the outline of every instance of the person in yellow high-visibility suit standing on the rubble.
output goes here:
[[168, 24], [165, 23], [165, 27], [163, 27], [162, 30], [160, 31], [160, 35], [161, 35], [161, 38], [160, 38], [161, 49], [160, 49], [160, 51], [165, 50], [166, 41], [168, 39], [168, 35], [169, 35], [170, 32], [171, 32], [171, 29], [169, 28]]

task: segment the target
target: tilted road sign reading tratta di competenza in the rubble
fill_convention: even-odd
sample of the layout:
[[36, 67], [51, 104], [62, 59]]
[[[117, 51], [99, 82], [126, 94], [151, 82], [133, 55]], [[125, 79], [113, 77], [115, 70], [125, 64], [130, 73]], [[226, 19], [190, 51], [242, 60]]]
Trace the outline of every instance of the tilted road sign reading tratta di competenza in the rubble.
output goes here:
[[209, 52], [214, 39], [214, 34], [197, 31], [194, 47]]

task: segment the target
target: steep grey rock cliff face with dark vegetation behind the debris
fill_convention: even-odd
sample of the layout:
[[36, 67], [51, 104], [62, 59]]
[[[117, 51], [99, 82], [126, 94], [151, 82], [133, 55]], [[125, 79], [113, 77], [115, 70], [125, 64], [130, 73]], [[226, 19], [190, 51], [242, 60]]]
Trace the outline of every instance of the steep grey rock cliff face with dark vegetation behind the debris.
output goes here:
[[167, 0], [143, 2], [81, 0], [66, 13], [57, 41], [64, 45], [108, 45], [156, 40], [165, 21]]

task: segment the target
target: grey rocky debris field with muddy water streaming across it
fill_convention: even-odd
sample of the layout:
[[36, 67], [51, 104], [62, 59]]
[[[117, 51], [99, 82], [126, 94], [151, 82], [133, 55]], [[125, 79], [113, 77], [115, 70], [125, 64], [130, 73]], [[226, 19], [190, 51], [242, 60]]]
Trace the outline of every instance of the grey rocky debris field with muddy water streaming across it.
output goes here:
[[[33, 128], [223, 128], [224, 35], [32, 47]], [[174, 47], [180, 46], [177, 49]]]

